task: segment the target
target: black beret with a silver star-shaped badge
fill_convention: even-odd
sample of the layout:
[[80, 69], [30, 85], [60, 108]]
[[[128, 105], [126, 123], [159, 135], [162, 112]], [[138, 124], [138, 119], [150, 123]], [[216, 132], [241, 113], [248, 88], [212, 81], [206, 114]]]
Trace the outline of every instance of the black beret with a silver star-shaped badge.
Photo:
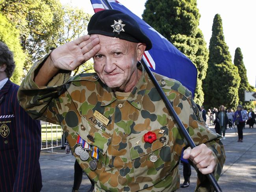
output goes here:
[[142, 42], [146, 50], [152, 48], [150, 39], [143, 33], [139, 24], [129, 15], [114, 9], [106, 9], [95, 13], [87, 27], [88, 34], [100, 34], [117, 37], [131, 42]]

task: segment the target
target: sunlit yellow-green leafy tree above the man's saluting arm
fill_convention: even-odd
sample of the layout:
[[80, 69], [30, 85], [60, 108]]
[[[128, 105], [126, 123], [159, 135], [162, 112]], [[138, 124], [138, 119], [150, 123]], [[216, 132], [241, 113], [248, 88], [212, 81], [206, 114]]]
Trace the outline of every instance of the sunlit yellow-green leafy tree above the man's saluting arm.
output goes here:
[[91, 17], [80, 9], [63, 7], [59, 0], [0, 0], [0, 13], [22, 31], [22, 49], [28, 55], [25, 73], [50, 47], [86, 33]]

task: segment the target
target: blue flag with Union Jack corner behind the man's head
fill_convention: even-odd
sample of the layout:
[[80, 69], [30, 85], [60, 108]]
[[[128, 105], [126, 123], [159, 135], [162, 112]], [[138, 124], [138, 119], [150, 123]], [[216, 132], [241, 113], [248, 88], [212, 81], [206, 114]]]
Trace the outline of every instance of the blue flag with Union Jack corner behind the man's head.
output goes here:
[[[152, 48], [145, 51], [143, 55], [143, 60], [150, 67], [150, 70], [180, 81], [194, 96], [195, 87], [197, 85], [196, 66], [171, 44], [171, 42], [117, 0], [108, 0], [108, 2], [113, 9], [119, 10], [134, 18], [152, 41]], [[95, 13], [108, 9], [104, 0], [91, 0], [91, 4]]]

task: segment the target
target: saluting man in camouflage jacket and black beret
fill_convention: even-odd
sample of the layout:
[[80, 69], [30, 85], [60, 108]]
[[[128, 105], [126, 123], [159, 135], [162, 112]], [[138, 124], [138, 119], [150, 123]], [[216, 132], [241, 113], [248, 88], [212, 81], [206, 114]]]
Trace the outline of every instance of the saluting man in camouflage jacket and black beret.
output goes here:
[[[33, 65], [20, 104], [33, 118], [62, 126], [95, 191], [175, 191], [187, 142], [139, 63], [150, 39], [117, 10], [96, 13], [87, 30]], [[91, 57], [96, 73], [69, 78]], [[197, 190], [213, 191], [204, 174], [221, 174], [221, 137], [206, 128], [189, 90], [154, 75], [197, 145], [184, 151], [199, 170]]]

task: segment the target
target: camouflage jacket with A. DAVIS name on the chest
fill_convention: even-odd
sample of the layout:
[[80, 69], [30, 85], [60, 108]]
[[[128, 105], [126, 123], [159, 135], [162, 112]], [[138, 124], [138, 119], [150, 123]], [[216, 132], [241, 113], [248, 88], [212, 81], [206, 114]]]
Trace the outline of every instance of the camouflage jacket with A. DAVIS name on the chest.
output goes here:
[[[82, 161], [74, 153], [95, 181], [95, 191], [171, 192], [179, 188], [178, 164], [187, 142], [144, 70], [127, 100], [118, 100], [96, 74], [69, 78], [68, 73], [60, 72], [47, 86], [38, 87], [33, 78], [45, 58], [35, 63], [23, 80], [20, 105], [35, 119], [61, 125], [73, 152], [78, 135], [99, 148], [95, 171], [89, 167], [91, 157]], [[154, 75], [195, 144], [205, 143], [213, 151], [218, 179], [225, 161], [220, 136], [207, 128], [189, 90], [178, 81]], [[95, 111], [109, 122], [96, 118]], [[159, 133], [161, 129], [163, 133]], [[157, 136], [152, 144], [143, 139], [148, 131]], [[165, 142], [160, 142], [160, 137], [165, 137]], [[153, 152], [156, 162], [149, 159]], [[204, 175], [198, 173], [198, 178], [196, 191], [213, 191]]]

